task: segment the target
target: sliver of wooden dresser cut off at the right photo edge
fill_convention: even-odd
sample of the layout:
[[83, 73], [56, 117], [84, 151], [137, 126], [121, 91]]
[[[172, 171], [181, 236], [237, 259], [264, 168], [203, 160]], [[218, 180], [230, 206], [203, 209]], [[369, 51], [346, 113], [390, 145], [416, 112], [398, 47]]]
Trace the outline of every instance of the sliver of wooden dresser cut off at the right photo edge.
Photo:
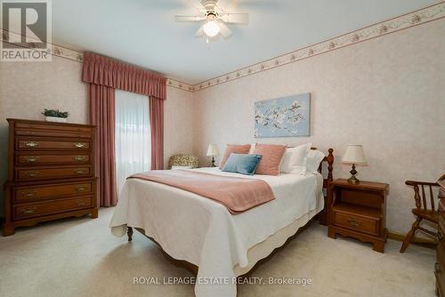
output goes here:
[[437, 237], [437, 258], [434, 265], [434, 275], [436, 276], [436, 293], [438, 296], [445, 297], [445, 187], [439, 191], [439, 229]]

